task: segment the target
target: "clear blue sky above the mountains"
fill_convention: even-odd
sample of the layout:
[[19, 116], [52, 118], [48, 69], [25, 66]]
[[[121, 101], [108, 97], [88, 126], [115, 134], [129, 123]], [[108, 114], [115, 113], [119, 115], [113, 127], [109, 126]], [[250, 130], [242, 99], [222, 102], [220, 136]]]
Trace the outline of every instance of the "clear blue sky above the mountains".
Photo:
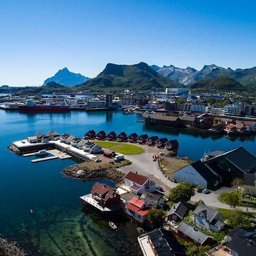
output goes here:
[[256, 65], [254, 1], [0, 1], [0, 85], [107, 63]]

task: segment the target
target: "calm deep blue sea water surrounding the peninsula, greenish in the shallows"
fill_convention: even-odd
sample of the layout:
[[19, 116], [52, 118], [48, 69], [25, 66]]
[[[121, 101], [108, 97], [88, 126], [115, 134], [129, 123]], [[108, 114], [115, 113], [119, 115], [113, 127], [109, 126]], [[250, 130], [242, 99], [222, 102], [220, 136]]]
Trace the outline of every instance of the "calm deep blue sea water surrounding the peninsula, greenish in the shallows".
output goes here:
[[[32, 158], [6, 149], [12, 141], [47, 133], [83, 136], [89, 129], [137, 132], [177, 139], [178, 154], [197, 160], [205, 148], [230, 150], [243, 145], [256, 154], [255, 137], [235, 137], [155, 126], [136, 122], [141, 115], [120, 111], [24, 114], [0, 110], [0, 233], [18, 241], [32, 255], [137, 255], [137, 230], [130, 222], [110, 230], [108, 220], [82, 210], [79, 196], [89, 193], [95, 181], [61, 175], [75, 164], [71, 159], [31, 163]], [[113, 185], [110, 181], [101, 182]], [[33, 213], [30, 212], [33, 210]]]

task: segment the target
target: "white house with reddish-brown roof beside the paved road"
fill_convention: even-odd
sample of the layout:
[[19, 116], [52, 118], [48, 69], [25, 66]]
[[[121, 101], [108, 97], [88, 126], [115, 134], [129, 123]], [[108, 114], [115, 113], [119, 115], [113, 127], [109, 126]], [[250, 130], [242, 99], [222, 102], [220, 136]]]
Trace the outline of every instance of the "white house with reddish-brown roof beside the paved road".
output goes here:
[[145, 191], [155, 191], [155, 181], [137, 172], [129, 171], [124, 179], [126, 187], [129, 187], [130, 191], [136, 195], [142, 195]]

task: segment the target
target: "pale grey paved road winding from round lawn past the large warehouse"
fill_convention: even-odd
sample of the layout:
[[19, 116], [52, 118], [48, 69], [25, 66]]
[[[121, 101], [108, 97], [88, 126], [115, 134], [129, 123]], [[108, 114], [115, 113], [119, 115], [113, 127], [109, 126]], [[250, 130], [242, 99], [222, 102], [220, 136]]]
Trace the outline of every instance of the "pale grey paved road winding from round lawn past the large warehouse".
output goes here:
[[[160, 185], [164, 189], [164, 194], [168, 195], [171, 188], [174, 188], [177, 184], [168, 180], [158, 168], [158, 163], [152, 161], [152, 152], [144, 152], [139, 155], [126, 155], [126, 159], [129, 159], [133, 164], [131, 166], [123, 166], [120, 168], [123, 172], [127, 173], [129, 171], [138, 172], [138, 174], [145, 175], [154, 179], [156, 185]], [[222, 193], [233, 191], [236, 187], [227, 188], [222, 187], [217, 191], [212, 191], [210, 194], [206, 195], [203, 193], [197, 193], [191, 198], [191, 202], [199, 201], [200, 199], [204, 201], [205, 204], [214, 208], [230, 209], [228, 204], [221, 203], [218, 200], [218, 196]], [[246, 207], [239, 207], [239, 209], [246, 212]], [[249, 212], [256, 212], [253, 208], [248, 208]]]

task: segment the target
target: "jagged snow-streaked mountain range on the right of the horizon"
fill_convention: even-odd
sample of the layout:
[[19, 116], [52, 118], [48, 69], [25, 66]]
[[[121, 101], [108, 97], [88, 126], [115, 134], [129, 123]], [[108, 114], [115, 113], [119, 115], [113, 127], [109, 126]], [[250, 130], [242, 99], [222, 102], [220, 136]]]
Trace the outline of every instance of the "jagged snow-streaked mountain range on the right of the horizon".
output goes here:
[[180, 82], [183, 85], [191, 85], [193, 82], [200, 80], [216, 79], [217, 77], [225, 76], [234, 79], [242, 85], [256, 86], [256, 67], [233, 70], [231, 68], [222, 68], [217, 65], [204, 65], [198, 71], [195, 68], [177, 68], [174, 65], [158, 67], [157, 65], [150, 66], [160, 75], [167, 77], [170, 80]]

